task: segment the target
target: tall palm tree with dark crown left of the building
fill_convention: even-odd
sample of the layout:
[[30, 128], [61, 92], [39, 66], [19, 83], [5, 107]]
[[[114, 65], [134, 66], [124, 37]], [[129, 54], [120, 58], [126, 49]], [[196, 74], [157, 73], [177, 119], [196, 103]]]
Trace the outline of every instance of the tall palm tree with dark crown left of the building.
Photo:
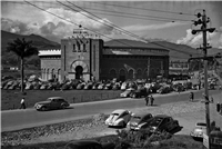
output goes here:
[[13, 42], [9, 42], [7, 47], [8, 51], [14, 52], [21, 60], [21, 92], [23, 93], [23, 80], [24, 80], [24, 68], [23, 62], [24, 58], [38, 54], [39, 51], [36, 47], [32, 46], [32, 41], [26, 41], [24, 38], [21, 40], [17, 38]]

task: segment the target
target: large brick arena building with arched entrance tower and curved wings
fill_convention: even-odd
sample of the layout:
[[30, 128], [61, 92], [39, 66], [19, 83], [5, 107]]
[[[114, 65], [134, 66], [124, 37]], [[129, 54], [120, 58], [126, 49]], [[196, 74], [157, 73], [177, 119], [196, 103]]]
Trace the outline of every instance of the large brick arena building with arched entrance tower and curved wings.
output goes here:
[[168, 77], [169, 51], [153, 43], [119, 39], [67, 38], [61, 47], [42, 49], [43, 80], [71, 79], [121, 81]]

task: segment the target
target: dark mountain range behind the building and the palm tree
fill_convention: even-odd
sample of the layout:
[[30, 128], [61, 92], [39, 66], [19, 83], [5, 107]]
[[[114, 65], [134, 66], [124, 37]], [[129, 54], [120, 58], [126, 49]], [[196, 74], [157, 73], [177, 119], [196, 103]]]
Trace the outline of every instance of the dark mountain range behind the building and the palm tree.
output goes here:
[[[46, 38], [42, 38], [37, 34], [30, 34], [30, 36], [22, 36], [22, 34], [16, 34], [10, 33], [7, 31], [0, 30], [0, 63], [1, 64], [16, 64], [18, 63], [17, 57], [14, 54], [11, 54], [7, 52], [7, 46], [8, 42], [12, 42], [17, 38], [24, 38], [26, 40], [32, 40], [33, 46], [39, 49], [54, 49], [60, 48], [60, 44], [53, 41], [50, 41]], [[144, 43], [141, 41], [135, 40], [128, 40], [128, 39], [118, 39], [111, 40], [104, 42], [104, 46], [128, 46], [133, 44], [135, 47], [149, 47], [149, 48], [163, 48], [170, 51], [170, 61], [188, 61], [188, 59], [192, 57], [200, 57], [201, 51], [198, 51], [195, 48], [185, 46], [185, 44], [175, 44], [169, 41], [164, 40], [149, 40], [150, 42]], [[122, 43], [122, 44], [120, 44]], [[222, 52], [222, 49], [212, 48], [208, 50], [208, 54], [216, 54], [218, 52]], [[31, 59], [32, 61], [32, 59]], [[34, 57], [34, 60], [32, 62], [38, 62], [39, 58], [38, 56]]]

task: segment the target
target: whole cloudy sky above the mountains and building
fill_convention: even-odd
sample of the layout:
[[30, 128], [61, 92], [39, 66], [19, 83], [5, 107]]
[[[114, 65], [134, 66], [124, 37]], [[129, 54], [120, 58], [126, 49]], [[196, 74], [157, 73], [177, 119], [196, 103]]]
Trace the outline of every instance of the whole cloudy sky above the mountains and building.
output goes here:
[[[60, 42], [79, 26], [104, 40], [128, 38], [168, 40], [200, 47], [191, 33], [198, 12], [206, 12], [209, 43], [222, 49], [222, 0], [0, 0], [1, 30], [40, 34]], [[31, 6], [34, 4], [34, 6]]]

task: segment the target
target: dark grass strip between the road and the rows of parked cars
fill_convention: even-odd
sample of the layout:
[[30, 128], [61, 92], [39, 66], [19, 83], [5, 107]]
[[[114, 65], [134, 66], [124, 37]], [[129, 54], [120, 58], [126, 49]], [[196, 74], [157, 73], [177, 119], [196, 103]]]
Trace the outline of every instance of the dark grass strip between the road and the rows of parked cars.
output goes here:
[[22, 95], [20, 90], [0, 90], [1, 110], [20, 108], [20, 100], [26, 98], [27, 107], [33, 107], [36, 102], [46, 100], [49, 97], [63, 97], [70, 103], [108, 100], [120, 97], [120, 90], [26, 90]]

